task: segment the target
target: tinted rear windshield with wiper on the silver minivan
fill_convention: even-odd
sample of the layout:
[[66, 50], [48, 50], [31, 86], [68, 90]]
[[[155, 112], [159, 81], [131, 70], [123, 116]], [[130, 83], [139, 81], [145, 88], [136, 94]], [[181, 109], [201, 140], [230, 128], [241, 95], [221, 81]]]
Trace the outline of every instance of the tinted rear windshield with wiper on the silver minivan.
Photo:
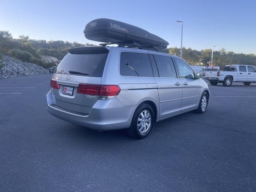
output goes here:
[[55, 73], [102, 77], [108, 53], [68, 53], [58, 65]]

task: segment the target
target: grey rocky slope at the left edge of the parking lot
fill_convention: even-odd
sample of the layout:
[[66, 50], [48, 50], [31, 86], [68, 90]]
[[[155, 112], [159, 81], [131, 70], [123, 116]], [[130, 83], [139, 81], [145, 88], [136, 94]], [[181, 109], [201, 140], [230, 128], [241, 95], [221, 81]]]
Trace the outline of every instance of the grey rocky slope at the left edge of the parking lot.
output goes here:
[[39, 74], [49, 74], [45, 68], [28, 62], [3, 55], [4, 67], [0, 69], [0, 79], [9, 77], [30, 76]]

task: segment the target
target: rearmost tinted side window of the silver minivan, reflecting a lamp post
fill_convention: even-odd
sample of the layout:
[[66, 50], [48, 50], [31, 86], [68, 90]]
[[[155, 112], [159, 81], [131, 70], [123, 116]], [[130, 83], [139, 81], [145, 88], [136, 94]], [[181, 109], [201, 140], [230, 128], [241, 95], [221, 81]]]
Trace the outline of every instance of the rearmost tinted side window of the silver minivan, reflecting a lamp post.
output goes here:
[[152, 66], [148, 54], [121, 52], [120, 75], [135, 77], [153, 77]]

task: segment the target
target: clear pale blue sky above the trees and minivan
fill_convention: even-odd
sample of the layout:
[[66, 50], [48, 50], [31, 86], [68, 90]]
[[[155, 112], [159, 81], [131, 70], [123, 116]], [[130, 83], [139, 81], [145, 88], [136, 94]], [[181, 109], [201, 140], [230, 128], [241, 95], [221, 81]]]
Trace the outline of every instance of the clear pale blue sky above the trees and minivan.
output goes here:
[[84, 37], [85, 25], [110, 18], [147, 30], [180, 47], [225, 48], [256, 54], [254, 0], [0, 0], [0, 30], [14, 38], [99, 44]]

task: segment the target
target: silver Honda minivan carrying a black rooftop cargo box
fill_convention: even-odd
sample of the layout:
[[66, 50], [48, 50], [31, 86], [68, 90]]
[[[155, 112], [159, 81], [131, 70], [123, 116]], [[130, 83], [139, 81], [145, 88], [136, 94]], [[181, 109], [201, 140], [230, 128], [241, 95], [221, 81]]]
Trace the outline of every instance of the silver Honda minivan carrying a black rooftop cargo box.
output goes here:
[[208, 84], [181, 58], [140, 48], [71, 48], [46, 95], [50, 114], [95, 130], [146, 137], [155, 122], [206, 111]]

